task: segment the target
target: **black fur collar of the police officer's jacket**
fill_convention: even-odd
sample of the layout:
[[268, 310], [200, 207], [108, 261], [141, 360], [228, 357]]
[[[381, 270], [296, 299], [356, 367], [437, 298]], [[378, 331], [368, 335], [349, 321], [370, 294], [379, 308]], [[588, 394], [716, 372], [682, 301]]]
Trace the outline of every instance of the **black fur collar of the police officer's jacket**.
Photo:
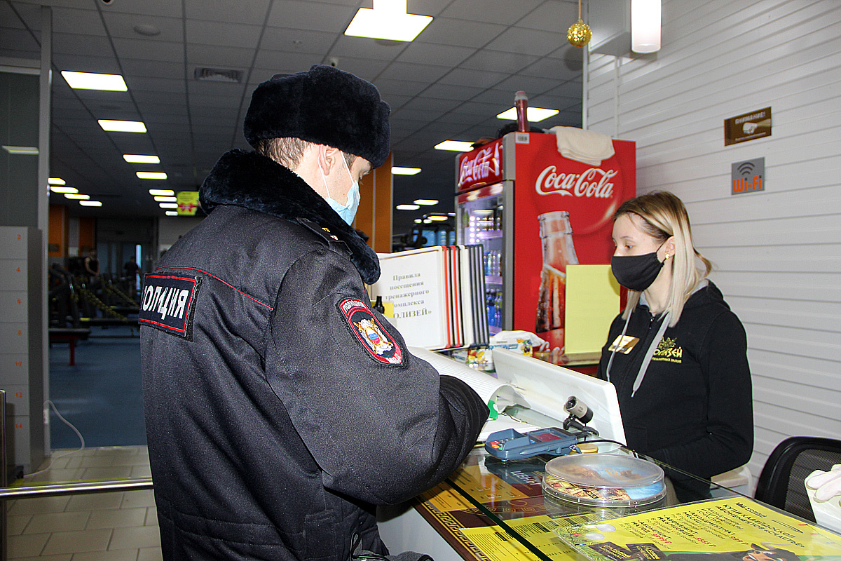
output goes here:
[[341, 220], [301, 177], [262, 154], [225, 152], [204, 179], [199, 198], [207, 213], [220, 204], [231, 204], [278, 218], [302, 218], [326, 226], [351, 250], [351, 261], [363, 282], [372, 284], [379, 278], [377, 254], [356, 230]]

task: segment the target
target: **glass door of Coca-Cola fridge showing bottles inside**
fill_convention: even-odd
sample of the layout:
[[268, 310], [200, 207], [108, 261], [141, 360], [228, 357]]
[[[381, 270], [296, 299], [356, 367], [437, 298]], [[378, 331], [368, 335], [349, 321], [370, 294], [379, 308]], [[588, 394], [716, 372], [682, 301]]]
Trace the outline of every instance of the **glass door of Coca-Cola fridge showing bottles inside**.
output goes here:
[[502, 227], [504, 212], [501, 183], [458, 195], [459, 243], [483, 246], [484, 300], [491, 335], [501, 331], [505, 325], [505, 246]]

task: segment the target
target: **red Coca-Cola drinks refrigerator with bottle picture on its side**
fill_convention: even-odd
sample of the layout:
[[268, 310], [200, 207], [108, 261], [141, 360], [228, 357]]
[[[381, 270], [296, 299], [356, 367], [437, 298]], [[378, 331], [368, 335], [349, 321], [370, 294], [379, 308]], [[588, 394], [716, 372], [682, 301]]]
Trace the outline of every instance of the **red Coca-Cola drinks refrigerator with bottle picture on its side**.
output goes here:
[[456, 159], [457, 242], [484, 246], [491, 334], [524, 330], [563, 353], [566, 267], [611, 262], [613, 213], [637, 192], [636, 145], [599, 166], [553, 134], [512, 132]]

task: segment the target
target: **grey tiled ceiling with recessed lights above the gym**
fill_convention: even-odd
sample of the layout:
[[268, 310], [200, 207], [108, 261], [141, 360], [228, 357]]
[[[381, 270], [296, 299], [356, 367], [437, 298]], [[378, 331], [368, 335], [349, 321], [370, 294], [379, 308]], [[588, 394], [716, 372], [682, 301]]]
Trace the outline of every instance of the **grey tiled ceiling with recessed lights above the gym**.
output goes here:
[[[162, 215], [149, 188], [197, 188], [223, 152], [248, 148], [242, 118], [257, 83], [333, 57], [391, 105], [394, 165], [423, 168], [394, 177], [394, 204], [437, 198], [426, 212], [451, 211], [455, 153], [432, 146], [495, 135], [516, 90], [560, 110], [539, 126], [581, 124], [582, 53], [566, 40], [575, 0], [409, 0], [410, 13], [434, 18], [411, 43], [343, 34], [372, 0], [0, 0], [0, 57], [40, 56], [42, 4], [53, 17], [50, 175], [103, 201], [73, 203], [73, 214]], [[239, 70], [242, 82], [197, 82], [202, 66]], [[129, 91], [74, 90], [61, 70], [121, 74]], [[97, 119], [141, 120], [149, 132], [106, 133]], [[161, 164], [128, 164], [129, 153]], [[142, 170], [169, 178], [135, 177]], [[394, 231], [423, 211], [395, 210]]]

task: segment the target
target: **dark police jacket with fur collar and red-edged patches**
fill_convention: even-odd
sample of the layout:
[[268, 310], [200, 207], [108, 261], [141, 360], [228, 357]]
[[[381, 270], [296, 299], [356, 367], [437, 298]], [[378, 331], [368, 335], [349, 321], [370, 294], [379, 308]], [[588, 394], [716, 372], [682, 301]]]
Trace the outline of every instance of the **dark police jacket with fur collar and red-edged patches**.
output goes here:
[[200, 196], [141, 301], [163, 558], [387, 553], [373, 505], [457, 468], [487, 407], [371, 309], [376, 254], [300, 177], [230, 151]]

